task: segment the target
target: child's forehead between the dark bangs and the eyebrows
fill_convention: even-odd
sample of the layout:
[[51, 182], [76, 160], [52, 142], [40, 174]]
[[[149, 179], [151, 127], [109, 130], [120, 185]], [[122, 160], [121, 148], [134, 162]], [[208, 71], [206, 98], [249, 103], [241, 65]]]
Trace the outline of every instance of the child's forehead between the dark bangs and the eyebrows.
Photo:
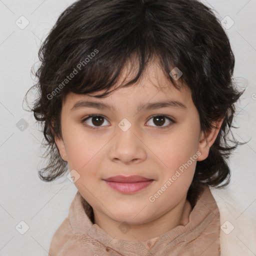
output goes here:
[[188, 86], [183, 85], [180, 89], [175, 88], [157, 62], [148, 64], [137, 82], [127, 87], [122, 87], [122, 84], [125, 84], [134, 77], [134, 70], [135, 69], [130, 68], [130, 65], [127, 65], [121, 72], [121, 75], [113, 88], [109, 89], [115, 90], [106, 97], [95, 97], [96, 95], [105, 92], [105, 90], [88, 94], [69, 92], [65, 97], [63, 107], [71, 109], [75, 102], [85, 99], [106, 102], [117, 106], [123, 104], [128, 106], [135, 104], [138, 106], [140, 103], [169, 99], [178, 100], [187, 105], [192, 103], [191, 92]]

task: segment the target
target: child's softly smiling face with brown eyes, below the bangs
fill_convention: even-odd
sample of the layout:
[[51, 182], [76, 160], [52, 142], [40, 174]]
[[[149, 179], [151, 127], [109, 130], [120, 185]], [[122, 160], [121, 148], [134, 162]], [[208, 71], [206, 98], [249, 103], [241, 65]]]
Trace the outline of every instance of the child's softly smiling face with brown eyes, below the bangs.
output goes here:
[[[55, 139], [94, 213], [131, 224], [153, 221], [184, 203], [196, 161], [207, 157], [217, 134], [207, 134], [205, 142], [187, 87], [175, 89], [156, 64], [146, 74], [105, 98], [69, 93], [61, 110], [62, 139]], [[147, 181], [105, 181], [116, 175]]]

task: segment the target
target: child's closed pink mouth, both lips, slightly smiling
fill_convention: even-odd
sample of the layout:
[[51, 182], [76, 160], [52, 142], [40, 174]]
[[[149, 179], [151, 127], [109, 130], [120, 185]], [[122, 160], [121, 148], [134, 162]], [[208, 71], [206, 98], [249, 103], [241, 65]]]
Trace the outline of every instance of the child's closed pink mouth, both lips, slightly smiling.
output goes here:
[[123, 176], [117, 175], [103, 179], [111, 188], [121, 193], [135, 193], [147, 186], [149, 186], [154, 179], [146, 177], [131, 175]]

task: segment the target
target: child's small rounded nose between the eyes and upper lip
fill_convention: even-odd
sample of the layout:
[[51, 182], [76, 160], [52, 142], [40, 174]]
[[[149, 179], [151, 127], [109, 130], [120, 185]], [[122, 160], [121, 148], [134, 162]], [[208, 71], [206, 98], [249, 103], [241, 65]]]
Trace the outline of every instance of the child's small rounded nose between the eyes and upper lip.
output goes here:
[[138, 163], [146, 159], [146, 146], [142, 135], [131, 125], [127, 130], [116, 127], [116, 135], [111, 140], [109, 158], [124, 164]]

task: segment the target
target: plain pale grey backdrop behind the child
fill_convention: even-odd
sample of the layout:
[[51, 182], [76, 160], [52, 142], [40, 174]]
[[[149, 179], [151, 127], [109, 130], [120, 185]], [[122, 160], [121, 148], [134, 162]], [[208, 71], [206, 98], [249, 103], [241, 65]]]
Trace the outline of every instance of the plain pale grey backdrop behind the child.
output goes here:
[[[32, 113], [22, 108], [24, 94], [33, 84], [30, 68], [38, 60], [40, 42], [72, 2], [0, 0], [0, 255], [46, 256], [52, 235], [67, 216], [76, 193], [67, 178], [52, 183], [38, 178], [42, 134]], [[216, 9], [219, 19], [228, 15], [234, 22], [226, 29], [235, 54], [234, 76], [240, 88], [247, 87], [237, 104], [234, 124], [240, 128], [233, 133], [240, 141], [251, 139], [229, 160], [230, 189], [241, 212], [252, 215], [256, 210], [256, 0], [202, 2]], [[29, 21], [24, 29], [15, 23], [21, 15]], [[21, 118], [27, 128], [22, 128]], [[24, 234], [15, 229], [21, 220], [29, 226]]]

